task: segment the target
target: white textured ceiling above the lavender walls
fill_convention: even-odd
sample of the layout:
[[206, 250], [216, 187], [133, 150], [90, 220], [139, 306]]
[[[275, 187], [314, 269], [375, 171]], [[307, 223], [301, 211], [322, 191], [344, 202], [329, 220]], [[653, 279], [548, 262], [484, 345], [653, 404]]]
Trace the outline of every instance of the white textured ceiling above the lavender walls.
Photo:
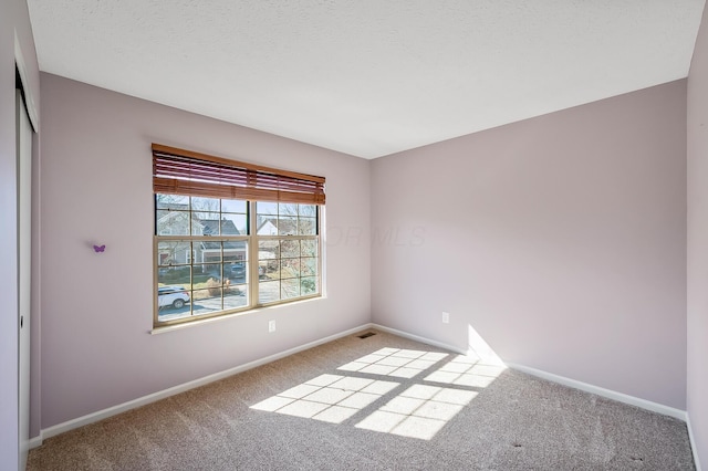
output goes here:
[[683, 78], [705, 0], [28, 0], [40, 69], [364, 158]]

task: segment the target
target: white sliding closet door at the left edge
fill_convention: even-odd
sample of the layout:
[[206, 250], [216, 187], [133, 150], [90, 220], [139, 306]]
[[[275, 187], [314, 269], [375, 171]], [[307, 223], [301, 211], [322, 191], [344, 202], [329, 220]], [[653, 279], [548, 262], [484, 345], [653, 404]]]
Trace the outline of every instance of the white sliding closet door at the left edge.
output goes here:
[[32, 266], [32, 126], [20, 91], [17, 91], [18, 149], [18, 327], [20, 470], [30, 444], [30, 305]]

